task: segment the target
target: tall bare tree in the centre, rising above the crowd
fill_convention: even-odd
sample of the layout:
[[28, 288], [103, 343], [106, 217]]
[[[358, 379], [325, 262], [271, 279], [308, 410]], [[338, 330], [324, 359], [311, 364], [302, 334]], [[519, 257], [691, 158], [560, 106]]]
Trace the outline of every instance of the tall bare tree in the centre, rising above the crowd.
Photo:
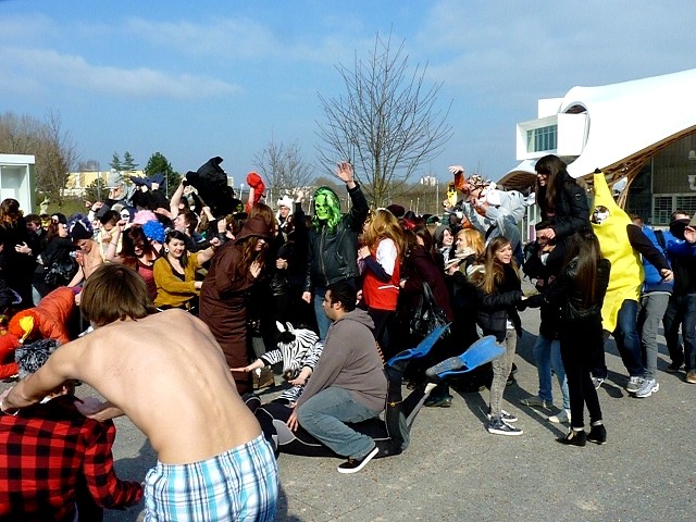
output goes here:
[[446, 122], [451, 101], [443, 110], [437, 105], [442, 83], [427, 87], [426, 66], [411, 70], [408, 58], [403, 42], [395, 51], [391, 35], [385, 41], [377, 34], [366, 62], [356, 55], [352, 70], [336, 66], [345, 96], [319, 96], [325, 116], [318, 122], [320, 161], [331, 171], [337, 160], [351, 161], [368, 199], [377, 206], [402, 190], [452, 136]]

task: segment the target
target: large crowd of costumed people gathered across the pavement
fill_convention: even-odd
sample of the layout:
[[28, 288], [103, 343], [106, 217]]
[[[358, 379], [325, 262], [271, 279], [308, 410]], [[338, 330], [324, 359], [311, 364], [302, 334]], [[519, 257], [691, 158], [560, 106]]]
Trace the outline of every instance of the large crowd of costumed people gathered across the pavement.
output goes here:
[[[523, 245], [520, 223], [527, 199], [481, 175], [467, 176], [461, 166], [450, 167], [452, 197], [444, 202], [443, 215], [422, 216], [397, 204], [370, 209], [346, 162], [337, 165], [336, 175], [351, 201], [347, 213], [328, 187], [315, 190], [308, 214], [299, 189], [277, 200], [274, 211], [256, 173], [247, 177], [251, 190], [245, 204], [226, 186], [221, 162], [213, 158], [189, 172], [169, 200], [159, 188], [160, 176], [136, 183], [115, 176], [108, 199], [87, 202], [86, 214], [70, 219], [24, 215], [13, 199], [0, 203], [4, 324], [51, 293], [70, 288], [76, 311], [65, 328], [77, 339], [52, 349], [50, 357], [46, 352], [30, 372], [22, 370], [32, 346], [27, 339], [0, 352], [12, 359], [0, 362], [11, 365], [16, 358], [17, 373], [29, 375], [2, 395], [0, 437], [14, 437], [20, 446], [38, 444], [21, 440], [17, 426], [50, 417], [46, 408], [30, 406], [46, 397], [61, 405], [55, 422], [64, 418], [105, 437], [107, 449], [113, 425], [83, 424], [128, 415], [159, 455], [145, 482], [151, 517], [146, 520], [170, 520], [167, 510], [210, 512], [213, 505], [259, 520], [273, 517], [274, 448], [249, 399], [254, 371], [264, 365], [261, 356], [277, 347], [276, 322], [316, 334], [321, 356], [287, 375], [298, 387], [287, 405], [287, 425], [301, 426], [344, 457], [341, 473], [388, 456], [351, 423], [384, 409], [383, 365], [427, 333], [424, 318], [414, 316], [424, 303], [450, 323], [449, 334], [424, 360], [408, 366], [408, 386], [425, 386], [427, 368], [461, 353], [482, 335], [494, 336], [502, 356], [458, 383], [489, 388], [485, 428], [492, 434], [523, 433], [515, 415], [504, 409], [504, 395], [513, 381], [522, 335], [519, 312], [526, 308], [540, 313], [534, 346], [539, 387], [522, 405], [548, 412], [550, 422], [569, 424], [562, 444], [607, 442], [597, 389], [607, 378], [604, 344], [609, 335], [626, 369], [626, 390], [635, 397], [659, 390], [661, 321], [668, 371], [678, 373], [685, 364], [685, 381], [696, 384], [696, 220], [676, 211], [669, 231], [650, 228], [614, 202], [599, 171], [588, 198], [558, 157], [538, 160], [534, 192], [542, 221], [535, 240]], [[536, 286], [533, 295], [522, 290], [524, 276]], [[85, 334], [88, 330], [94, 332]], [[119, 343], [117, 352], [105, 340], [112, 335], [128, 340]], [[562, 394], [559, 411], [552, 409], [554, 374]], [[107, 402], [67, 403], [70, 380], [89, 383]], [[438, 383], [425, 406], [451, 406], [450, 384]], [[75, 420], [83, 417], [84, 422]], [[75, 517], [75, 509], [121, 507], [142, 496], [137, 485], [111, 476], [108, 462], [101, 470], [75, 470], [87, 484], [73, 481], [57, 499], [40, 505], [38, 497], [28, 498], [21, 481], [7, 478], [12, 465], [16, 460], [0, 449], [0, 481], [11, 486], [2, 488], [0, 505], [9, 512], [52, 509]], [[225, 501], [211, 497], [217, 486], [209, 473], [219, 468], [226, 471], [215, 480], [243, 493]], [[103, 487], [90, 483], [96, 473], [110, 473], [111, 488], [123, 493], [105, 498]], [[29, 478], [38, 481], [38, 475]], [[187, 506], [174, 507], [174, 495], [187, 499]], [[211, 517], [204, 520], [216, 520]]]

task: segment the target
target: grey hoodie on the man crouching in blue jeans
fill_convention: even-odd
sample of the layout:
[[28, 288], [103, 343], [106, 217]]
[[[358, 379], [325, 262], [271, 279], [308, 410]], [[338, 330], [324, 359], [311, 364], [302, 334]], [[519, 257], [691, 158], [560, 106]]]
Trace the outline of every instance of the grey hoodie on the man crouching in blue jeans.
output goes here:
[[382, 411], [387, 397], [387, 377], [377, 351], [368, 312], [356, 309], [328, 328], [324, 351], [297, 401], [297, 408], [321, 390], [335, 386], [350, 391], [366, 408]]

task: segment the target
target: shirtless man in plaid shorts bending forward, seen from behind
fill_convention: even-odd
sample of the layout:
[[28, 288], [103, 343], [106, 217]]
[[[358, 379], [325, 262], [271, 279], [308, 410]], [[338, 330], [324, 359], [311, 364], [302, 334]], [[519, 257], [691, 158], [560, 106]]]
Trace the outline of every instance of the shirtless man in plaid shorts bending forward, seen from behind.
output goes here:
[[0, 409], [33, 405], [70, 378], [88, 383], [107, 402], [86, 400], [80, 411], [126, 414], [158, 452], [146, 521], [273, 520], [273, 451], [206, 325], [183, 310], [151, 314], [145, 282], [120, 264], [95, 270], [82, 311], [96, 330], [0, 396]]

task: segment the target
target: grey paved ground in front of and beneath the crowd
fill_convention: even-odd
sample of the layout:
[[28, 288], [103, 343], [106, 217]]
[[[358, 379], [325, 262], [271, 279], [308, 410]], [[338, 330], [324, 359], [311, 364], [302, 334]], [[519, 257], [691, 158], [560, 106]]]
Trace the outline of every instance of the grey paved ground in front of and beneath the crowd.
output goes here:
[[[336, 459], [283, 455], [277, 520], [693, 520], [696, 386], [685, 384], [683, 373], [663, 372], [664, 346], [659, 393], [635, 399], [623, 390], [625, 370], [608, 344], [609, 381], [599, 391], [608, 444], [569, 448], [555, 443], [563, 427], [519, 406], [537, 390], [532, 346], [538, 313], [525, 311], [522, 321], [527, 330], [519, 343], [518, 385], [506, 389], [505, 408], [520, 418], [524, 435], [484, 430], [486, 390], [456, 396], [450, 409], [424, 408], [403, 455], [373, 461], [355, 475], [337, 473]], [[82, 388], [80, 394], [89, 391]], [[156, 457], [128, 420], [117, 425], [116, 470], [124, 478], [142, 480]], [[105, 520], [140, 521], [141, 510], [109, 512]]]

